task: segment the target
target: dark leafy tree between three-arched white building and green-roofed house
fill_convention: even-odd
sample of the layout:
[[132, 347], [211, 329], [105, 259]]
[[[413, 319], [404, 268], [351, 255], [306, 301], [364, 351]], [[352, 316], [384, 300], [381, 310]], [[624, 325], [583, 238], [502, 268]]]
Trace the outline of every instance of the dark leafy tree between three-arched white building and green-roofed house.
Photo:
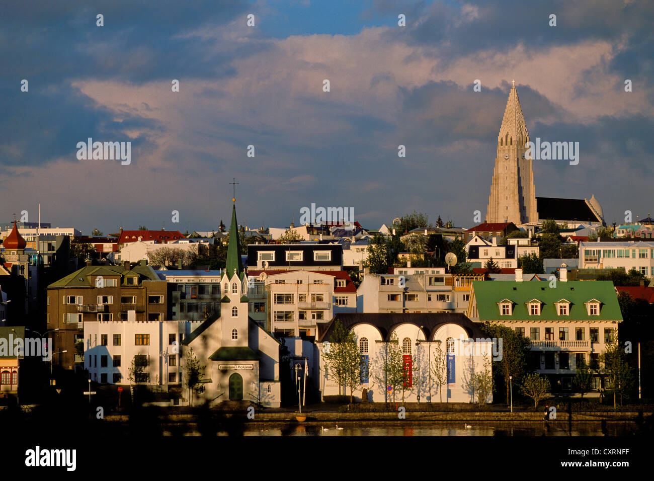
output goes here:
[[[513, 382], [520, 382], [526, 372], [527, 356], [531, 352], [531, 341], [509, 327], [499, 324], [485, 323], [484, 330], [497, 340], [498, 351], [502, 353], [502, 359], [496, 361], [506, 387], [506, 404], [509, 404], [509, 377], [513, 377]], [[502, 347], [500, 349], [500, 342]]]

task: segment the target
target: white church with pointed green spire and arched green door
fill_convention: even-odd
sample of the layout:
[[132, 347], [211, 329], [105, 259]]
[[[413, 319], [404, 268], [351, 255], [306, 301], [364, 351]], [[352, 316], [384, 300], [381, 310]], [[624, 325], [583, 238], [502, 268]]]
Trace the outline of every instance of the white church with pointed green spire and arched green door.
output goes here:
[[[252, 401], [279, 407], [279, 341], [258, 325], [248, 312], [248, 277], [241, 260], [236, 205], [232, 206], [232, 224], [227, 248], [225, 272], [220, 278], [220, 313], [206, 319], [182, 340], [182, 369], [193, 357], [203, 366], [201, 395], [192, 404], [223, 401]], [[182, 380], [182, 383], [186, 380]], [[187, 399], [188, 400], [188, 399]]]

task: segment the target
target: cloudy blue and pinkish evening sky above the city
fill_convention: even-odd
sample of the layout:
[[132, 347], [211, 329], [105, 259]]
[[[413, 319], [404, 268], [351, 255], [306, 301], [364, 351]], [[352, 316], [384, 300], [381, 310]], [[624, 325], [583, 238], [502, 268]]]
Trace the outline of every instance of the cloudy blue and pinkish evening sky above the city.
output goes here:
[[[470, 227], [512, 80], [532, 140], [579, 142], [576, 166], [534, 160], [536, 196], [643, 218], [653, 25], [641, 1], [4, 2], [0, 219], [35, 222], [40, 202], [84, 234], [212, 230], [235, 178], [250, 228], [311, 204], [368, 228], [413, 211]], [[131, 142], [131, 163], [79, 160], [88, 137]]]

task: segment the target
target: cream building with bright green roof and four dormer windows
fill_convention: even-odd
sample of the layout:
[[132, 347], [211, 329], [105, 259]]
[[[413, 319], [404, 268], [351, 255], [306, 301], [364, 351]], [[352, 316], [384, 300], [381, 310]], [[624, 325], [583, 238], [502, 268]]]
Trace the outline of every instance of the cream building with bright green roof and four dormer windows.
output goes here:
[[[581, 361], [594, 365], [617, 342], [622, 314], [611, 281], [475, 281], [467, 315], [530, 339], [529, 367], [548, 376], [553, 391], [571, 391]], [[604, 387], [601, 374], [593, 388]]]

